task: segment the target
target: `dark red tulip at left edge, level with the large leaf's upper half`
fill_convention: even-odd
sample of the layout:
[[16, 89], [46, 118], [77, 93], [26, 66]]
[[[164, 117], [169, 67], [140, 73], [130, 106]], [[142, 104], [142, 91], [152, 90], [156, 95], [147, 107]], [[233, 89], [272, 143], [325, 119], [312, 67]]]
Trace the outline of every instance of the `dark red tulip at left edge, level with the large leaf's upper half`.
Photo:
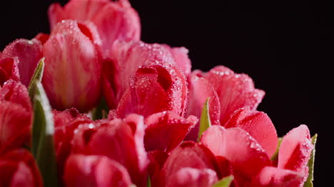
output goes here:
[[9, 80], [0, 88], [0, 153], [28, 141], [32, 123], [31, 102], [26, 87]]

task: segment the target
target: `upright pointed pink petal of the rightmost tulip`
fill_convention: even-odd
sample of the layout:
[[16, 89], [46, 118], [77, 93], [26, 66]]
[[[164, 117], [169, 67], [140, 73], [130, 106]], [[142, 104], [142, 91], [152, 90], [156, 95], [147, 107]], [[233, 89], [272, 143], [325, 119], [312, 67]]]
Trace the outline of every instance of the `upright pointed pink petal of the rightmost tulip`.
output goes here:
[[290, 130], [280, 144], [278, 168], [303, 172], [308, 164], [308, 159], [310, 159], [312, 149], [310, 131], [306, 125], [302, 124]]

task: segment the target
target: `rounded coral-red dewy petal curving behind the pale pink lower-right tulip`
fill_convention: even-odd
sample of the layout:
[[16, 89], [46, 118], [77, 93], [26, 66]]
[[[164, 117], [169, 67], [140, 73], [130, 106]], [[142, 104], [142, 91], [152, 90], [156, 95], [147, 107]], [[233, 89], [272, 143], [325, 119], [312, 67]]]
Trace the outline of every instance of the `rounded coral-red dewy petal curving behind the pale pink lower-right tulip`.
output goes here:
[[269, 158], [275, 154], [278, 137], [273, 122], [264, 112], [251, 111], [248, 107], [236, 110], [225, 124], [226, 128], [239, 127], [258, 141]]

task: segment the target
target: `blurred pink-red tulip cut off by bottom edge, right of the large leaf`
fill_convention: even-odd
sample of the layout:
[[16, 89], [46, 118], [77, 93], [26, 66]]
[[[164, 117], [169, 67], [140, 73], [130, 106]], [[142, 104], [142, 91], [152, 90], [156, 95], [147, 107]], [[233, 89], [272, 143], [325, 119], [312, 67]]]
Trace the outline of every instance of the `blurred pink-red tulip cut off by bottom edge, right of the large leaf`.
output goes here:
[[131, 178], [126, 168], [106, 156], [72, 154], [66, 161], [66, 186], [128, 187]]

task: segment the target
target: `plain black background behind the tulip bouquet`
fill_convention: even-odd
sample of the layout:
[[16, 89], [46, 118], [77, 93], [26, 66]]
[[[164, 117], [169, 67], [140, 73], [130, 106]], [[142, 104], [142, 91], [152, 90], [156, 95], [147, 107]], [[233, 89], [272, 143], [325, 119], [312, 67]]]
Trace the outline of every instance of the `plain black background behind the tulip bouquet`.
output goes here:
[[[52, 2], [1, 1], [0, 50], [16, 38], [49, 33]], [[318, 133], [314, 183], [333, 183], [333, 6], [305, 0], [131, 4], [141, 17], [142, 41], [185, 46], [193, 69], [225, 65], [250, 75], [266, 92], [258, 110], [270, 116], [278, 135], [299, 124]]]

